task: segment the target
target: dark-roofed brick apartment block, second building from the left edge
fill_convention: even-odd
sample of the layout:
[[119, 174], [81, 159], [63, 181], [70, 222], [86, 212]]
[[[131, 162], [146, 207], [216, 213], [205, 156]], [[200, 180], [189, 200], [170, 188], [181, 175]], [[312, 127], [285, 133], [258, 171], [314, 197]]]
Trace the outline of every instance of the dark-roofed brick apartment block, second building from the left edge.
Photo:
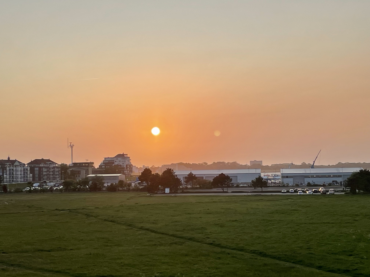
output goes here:
[[49, 159], [36, 159], [30, 161], [27, 166], [32, 174], [34, 182], [57, 182], [60, 180], [60, 165]]

